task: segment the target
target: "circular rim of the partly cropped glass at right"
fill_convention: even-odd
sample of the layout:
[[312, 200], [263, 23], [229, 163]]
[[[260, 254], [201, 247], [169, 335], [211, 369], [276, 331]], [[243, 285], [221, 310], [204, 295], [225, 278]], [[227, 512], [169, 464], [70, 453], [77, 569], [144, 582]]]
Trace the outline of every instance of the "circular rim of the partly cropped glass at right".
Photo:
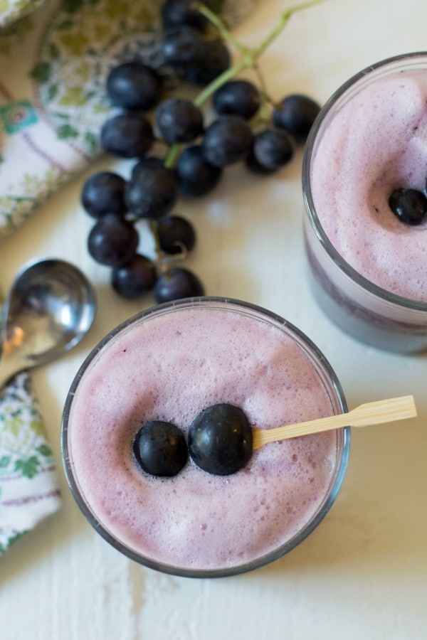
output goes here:
[[332, 245], [332, 242], [330, 242], [327, 234], [325, 233], [325, 230], [322, 227], [322, 224], [320, 223], [320, 220], [316, 213], [315, 203], [312, 197], [310, 181], [312, 152], [315, 148], [317, 134], [320, 132], [322, 124], [329, 114], [330, 109], [347, 92], [347, 90], [354, 87], [360, 80], [363, 80], [371, 73], [386, 68], [387, 66], [393, 66], [396, 63], [404, 62], [405, 60], [413, 61], [414, 64], [417, 60], [425, 60], [427, 68], [427, 50], [411, 53], [401, 53], [399, 55], [391, 56], [390, 58], [384, 58], [383, 60], [379, 60], [379, 62], [365, 67], [361, 71], [352, 75], [351, 78], [343, 82], [342, 85], [340, 85], [338, 89], [335, 90], [334, 93], [332, 93], [327, 102], [325, 102], [325, 105], [323, 105], [323, 107], [321, 108], [319, 114], [315, 119], [315, 122], [312, 124], [302, 156], [302, 198], [305, 204], [307, 216], [310, 220], [310, 225], [312, 226], [312, 230], [317, 236], [317, 240], [320, 241], [320, 244], [325, 249], [327, 254], [332, 258], [334, 264], [337, 265], [337, 267], [339, 267], [339, 269], [345, 275], [347, 275], [347, 277], [359, 284], [362, 289], [365, 289], [371, 294], [374, 294], [376, 297], [383, 299], [384, 302], [406, 307], [406, 309], [411, 309], [413, 311], [427, 311], [427, 302], [421, 302], [419, 300], [413, 300], [411, 298], [399, 296], [398, 294], [387, 291], [387, 289], [383, 289], [383, 287], [379, 287], [378, 284], [374, 284], [374, 282], [371, 282], [371, 280], [365, 278], [364, 276], [362, 276], [362, 274], [359, 274], [359, 272], [357, 272], [351, 265], [349, 265], [347, 260], [344, 260], [342, 255], [340, 255], [334, 245]]

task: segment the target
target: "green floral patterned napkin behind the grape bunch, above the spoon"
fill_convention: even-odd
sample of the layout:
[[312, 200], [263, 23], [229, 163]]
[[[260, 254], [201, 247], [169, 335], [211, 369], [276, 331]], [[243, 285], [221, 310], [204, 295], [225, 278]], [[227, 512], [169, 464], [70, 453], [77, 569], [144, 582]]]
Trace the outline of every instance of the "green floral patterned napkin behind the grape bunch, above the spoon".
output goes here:
[[[255, 3], [210, 1], [230, 24]], [[157, 58], [160, 0], [0, 0], [0, 16], [30, 4], [0, 28], [0, 238], [100, 155], [111, 66]]]

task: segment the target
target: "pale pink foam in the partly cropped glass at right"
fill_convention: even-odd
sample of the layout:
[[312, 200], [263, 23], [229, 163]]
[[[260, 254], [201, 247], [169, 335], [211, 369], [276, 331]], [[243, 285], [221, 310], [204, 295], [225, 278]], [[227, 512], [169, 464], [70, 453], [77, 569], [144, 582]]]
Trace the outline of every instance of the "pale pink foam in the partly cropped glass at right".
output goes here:
[[427, 302], [427, 221], [401, 223], [395, 188], [426, 189], [427, 70], [362, 89], [328, 123], [312, 159], [312, 196], [326, 235], [357, 272]]

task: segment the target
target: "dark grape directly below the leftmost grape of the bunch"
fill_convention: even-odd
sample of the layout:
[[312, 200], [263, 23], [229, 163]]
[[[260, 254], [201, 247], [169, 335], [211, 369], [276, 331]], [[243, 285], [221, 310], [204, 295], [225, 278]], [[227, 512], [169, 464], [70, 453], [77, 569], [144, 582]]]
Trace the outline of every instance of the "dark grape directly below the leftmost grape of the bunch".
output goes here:
[[134, 225], [114, 213], [107, 213], [90, 230], [88, 251], [100, 265], [117, 267], [130, 260], [138, 242]]

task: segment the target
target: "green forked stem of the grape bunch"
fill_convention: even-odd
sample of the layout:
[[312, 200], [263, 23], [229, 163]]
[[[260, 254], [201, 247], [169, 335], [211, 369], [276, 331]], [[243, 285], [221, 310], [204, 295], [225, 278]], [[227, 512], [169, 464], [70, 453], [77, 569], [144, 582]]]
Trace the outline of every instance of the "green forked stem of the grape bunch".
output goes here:
[[[229, 44], [231, 44], [231, 46], [238, 50], [238, 52], [241, 54], [241, 59], [238, 60], [235, 65], [231, 66], [230, 68], [223, 71], [223, 73], [218, 75], [218, 77], [215, 78], [215, 80], [213, 80], [209, 85], [204, 87], [199, 95], [194, 98], [194, 105], [196, 105], [196, 107], [201, 107], [202, 105], [204, 105], [206, 100], [208, 100], [209, 97], [211, 97], [211, 95], [213, 95], [214, 92], [219, 89], [219, 87], [222, 87], [222, 85], [228, 82], [228, 80], [232, 80], [236, 77], [236, 75], [238, 75], [245, 69], [255, 67], [255, 63], [258, 58], [260, 58], [260, 56], [263, 55], [264, 51], [270, 46], [270, 44], [275, 41], [275, 38], [277, 38], [280, 33], [282, 33], [283, 29], [288, 24], [288, 21], [293, 14], [296, 14], [298, 11], [303, 11], [304, 9], [310, 9], [311, 6], [321, 4], [324, 1], [325, 0], [310, 0], [308, 2], [303, 2], [302, 4], [291, 6], [286, 11], [283, 11], [283, 14], [280, 15], [278, 23], [275, 25], [272, 31], [270, 31], [268, 36], [266, 36], [266, 38], [264, 38], [264, 40], [253, 49], [250, 49], [241, 44], [233, 36], [233, 33], [229, 31], [221, 18], [214, 14], [213, 11], [208, 9], [206, 5], [199, 3], [196, 4], [196, 8], [200, 11], [200, 13], [208, 18], [209, 21], [217, 28], [221, 38], [223, 38], [224, 41], [228, 42]], [[175, 164], [178, 154], [179, 144], [172, 144], [172, 146], [169, 147], [169, 151], [167, 152], [164, 166], [172, 168]]]

